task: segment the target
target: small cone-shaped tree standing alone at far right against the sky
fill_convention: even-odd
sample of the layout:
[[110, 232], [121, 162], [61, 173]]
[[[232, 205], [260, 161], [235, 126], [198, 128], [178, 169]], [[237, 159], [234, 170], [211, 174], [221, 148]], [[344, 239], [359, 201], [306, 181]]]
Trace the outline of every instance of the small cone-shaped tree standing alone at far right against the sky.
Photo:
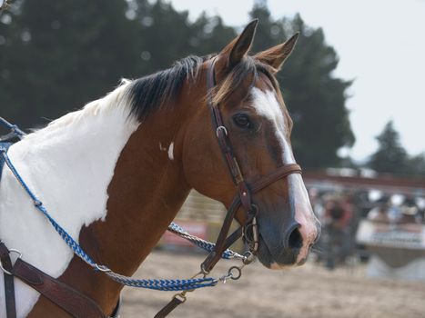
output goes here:
[[409, 156], [400, 144], [400, 135], [392, 121], [388, 122], [378, 140], [378, 150], [369, 159], [369, 167], [379, 173], [405, 174], [408, 171]]

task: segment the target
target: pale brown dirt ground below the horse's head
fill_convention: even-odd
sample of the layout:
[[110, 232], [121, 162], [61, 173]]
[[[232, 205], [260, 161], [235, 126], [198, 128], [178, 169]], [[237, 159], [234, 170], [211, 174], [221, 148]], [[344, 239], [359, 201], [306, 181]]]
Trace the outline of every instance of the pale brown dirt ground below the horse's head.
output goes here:
[[[187, 278], [197, 272], [202, 260], [202, 255], [155, 252], [142, 264], [137, 277]], [[215, 277], [226, 273], [231, 263], [218, 263]], [[364, 265], [329, 272], [310, 262], [295, 269], [270, 271], [253, 263], [237, 282], [188, 293], [187, 302], [170, 317], [425, 317], [425, 283], [369, 279], [364, 272]], [[153, 317], [173, 294], [126, 288], [121, 317]]]

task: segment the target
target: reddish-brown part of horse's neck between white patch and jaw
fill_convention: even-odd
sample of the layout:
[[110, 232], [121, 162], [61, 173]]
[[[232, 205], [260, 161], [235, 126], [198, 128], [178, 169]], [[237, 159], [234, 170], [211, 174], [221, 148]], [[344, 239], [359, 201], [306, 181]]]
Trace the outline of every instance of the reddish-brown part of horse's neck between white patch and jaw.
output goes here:
[[82, 242], [101, 246], [102, 260], [120, 273], [136, 271], [187, 197], [173, 116], [153, 115], [130, 137], [107, 190], [105, 222], [82, 232]]

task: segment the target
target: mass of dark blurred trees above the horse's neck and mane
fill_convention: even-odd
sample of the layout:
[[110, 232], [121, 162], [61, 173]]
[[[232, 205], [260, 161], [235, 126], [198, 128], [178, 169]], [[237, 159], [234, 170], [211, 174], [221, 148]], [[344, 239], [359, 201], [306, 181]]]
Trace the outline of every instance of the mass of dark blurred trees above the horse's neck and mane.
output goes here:
[[23, 127], [46, 124], [189, 54], [218, 51], [235, 35], [219, 17], [158, 0], [16, 1], [0, 21], [2, 115]]

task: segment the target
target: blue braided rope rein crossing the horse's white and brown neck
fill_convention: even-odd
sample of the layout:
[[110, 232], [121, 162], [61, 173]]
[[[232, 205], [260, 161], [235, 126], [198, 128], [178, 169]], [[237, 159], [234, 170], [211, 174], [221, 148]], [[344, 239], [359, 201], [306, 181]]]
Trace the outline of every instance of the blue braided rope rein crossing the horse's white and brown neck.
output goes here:
[[[122, 283], [126, 286], [139, 287], [139, 288], [148, 288], [160, 291], [187, 291], [193, 290], [202, 287], [215, 286], [218, 283], [218, 279], [211, 277], [203, 278], [192, 278], [184, 280], [168, 280], [168, 279], [134, 279], [121, 275], [119, 273], [114, 273], [105, 265], [99, 265], [91, 259], [91, 257], [81, 248], [81, 246], [76, 243], [76, 241], [69, 235], [64, 228], [62, 228], [56, 221], [50, 216], [47, 212], [44, 204], [38, 200], [35, 194], [29, 189], [27, 184], [25, 184], [21, 175], [17, 172], [15, 165], [10, 161], [7, 151], [4, 147], [0, 147], [0, 154], [3, 158], [5, 164], [9, 167], [11, 172], [15, 175], [16, 180], [24, 188], [26, 194], [30, 196], [33, 200], [35, 208], [46, 216], [48, 221], [53, 225], [56, 232], [62, 237], [64, 242], [72, 249], [76, 255], [81, 258], [84, 262], [90, 265], [92, 268], [106, 273], [109, 277], [115, 280], [117, 283]], [[181, 228], [180, 228], [181, 229]], [[181, 229], [183, 230], [183, 229]], [[184, 230], [183, 230], [184, 232]]]

